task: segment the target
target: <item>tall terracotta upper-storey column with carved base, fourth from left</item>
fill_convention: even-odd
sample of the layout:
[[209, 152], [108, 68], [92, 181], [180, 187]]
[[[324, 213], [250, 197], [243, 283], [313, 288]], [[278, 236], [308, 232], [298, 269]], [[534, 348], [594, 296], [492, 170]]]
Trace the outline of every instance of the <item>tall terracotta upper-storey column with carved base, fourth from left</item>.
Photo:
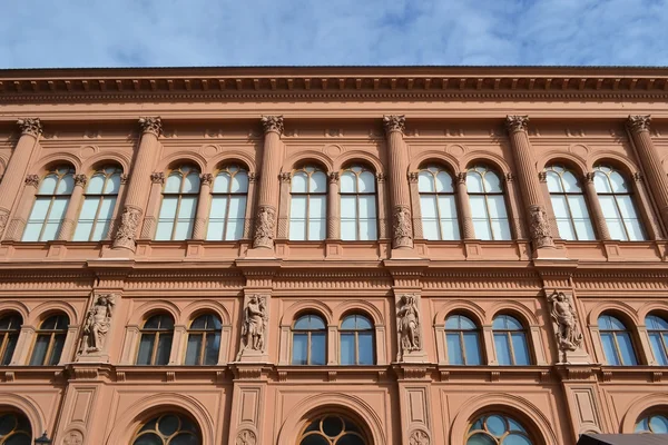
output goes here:
[[392, 202], [392, 248], [413, 247], [411, 197], [409, 192], [409, 152], [403, 141], [405, 116], [384, 116], [390, 159], [390, 199]]

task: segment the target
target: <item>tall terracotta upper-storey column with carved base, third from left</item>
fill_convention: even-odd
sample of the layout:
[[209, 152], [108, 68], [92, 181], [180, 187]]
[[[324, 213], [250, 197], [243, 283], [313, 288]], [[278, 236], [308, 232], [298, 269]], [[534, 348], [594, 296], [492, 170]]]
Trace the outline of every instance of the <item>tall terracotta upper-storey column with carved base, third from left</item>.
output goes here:
[[281, 135], [283, 116], [263, 116], [265, 132], [259, 198], [255, 217], [254, 248], [273, 249], [276, 236], [276, 212], [278, 207], [278, 172], [281, 170]]

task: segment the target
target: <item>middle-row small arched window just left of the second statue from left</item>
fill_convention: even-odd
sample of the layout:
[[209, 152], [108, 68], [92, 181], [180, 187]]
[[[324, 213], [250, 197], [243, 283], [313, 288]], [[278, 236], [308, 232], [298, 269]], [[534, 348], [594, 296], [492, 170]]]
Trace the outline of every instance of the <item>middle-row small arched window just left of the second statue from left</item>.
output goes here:
[[186, 365], [216, 365], [220, 350], [220, 318], [213, 314], [195, 318], [188, 329]]

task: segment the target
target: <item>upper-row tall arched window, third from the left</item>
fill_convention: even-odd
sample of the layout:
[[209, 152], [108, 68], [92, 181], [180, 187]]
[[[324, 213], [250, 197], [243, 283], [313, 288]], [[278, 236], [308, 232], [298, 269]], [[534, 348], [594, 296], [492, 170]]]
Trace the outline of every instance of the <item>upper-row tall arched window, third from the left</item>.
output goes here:
[[158, 217], [157, 240], [184, 240], [193, 235], [199, 171], [191, 166], [171, 170], [163, 190], [163, 205]]

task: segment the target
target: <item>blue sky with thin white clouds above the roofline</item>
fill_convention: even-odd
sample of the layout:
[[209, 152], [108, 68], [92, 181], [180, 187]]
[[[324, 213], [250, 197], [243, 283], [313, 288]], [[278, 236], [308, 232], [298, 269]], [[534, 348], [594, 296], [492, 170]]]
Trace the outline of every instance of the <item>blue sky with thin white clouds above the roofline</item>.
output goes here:
[[0, 68], [668, 66], [668, 0], [6, 0]]

